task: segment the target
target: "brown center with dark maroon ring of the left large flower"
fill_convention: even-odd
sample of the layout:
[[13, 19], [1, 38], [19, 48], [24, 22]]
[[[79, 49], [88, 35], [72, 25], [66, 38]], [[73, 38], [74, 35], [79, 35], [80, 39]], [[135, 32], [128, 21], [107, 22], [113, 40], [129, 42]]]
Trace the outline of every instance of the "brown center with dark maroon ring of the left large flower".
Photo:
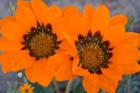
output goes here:
[[61, 41], [57, 41], [56, 34], [52, 33], [52, 26], [48, 24], [37, 25], [37, 28], [32, 27], [31, 32], [23, 36], [25, 45], [22, 49], [28, 49], [30, 55], [36, 59], [43, 57], [48, 58], [55, 54], [55, 50], [58, 49], [58, 45]]

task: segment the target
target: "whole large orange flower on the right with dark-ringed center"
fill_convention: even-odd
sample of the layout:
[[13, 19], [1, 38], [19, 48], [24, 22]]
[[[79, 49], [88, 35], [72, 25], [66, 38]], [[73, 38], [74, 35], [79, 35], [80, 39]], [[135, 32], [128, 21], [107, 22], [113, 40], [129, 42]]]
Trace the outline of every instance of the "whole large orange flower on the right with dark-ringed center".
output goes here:
[[110, 17], [108, 8], [101, 4], [97, 9], [86, 5], [82, 15], [66, 9], [64, 17], [64, 34], [72, 46], [69, 51], [73, 53], [73, 72], [83, 77], [88, 93], [98, 93], [100, 89], [115, 93], [122, 75], [140, 71], [140, 38], [125, 32], [125, 15]]

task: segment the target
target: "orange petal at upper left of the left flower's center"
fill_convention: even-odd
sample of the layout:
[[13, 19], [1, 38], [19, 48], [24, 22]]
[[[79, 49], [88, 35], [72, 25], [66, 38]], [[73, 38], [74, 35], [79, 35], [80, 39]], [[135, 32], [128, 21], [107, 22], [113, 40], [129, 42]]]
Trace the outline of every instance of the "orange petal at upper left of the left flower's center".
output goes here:
[[35, 15], [28, 7], [18, 7], [16, 9], [16, 20], [23, 24], [28, 31], [30, 31], [32, 27], [36, 27], [37, 24]]

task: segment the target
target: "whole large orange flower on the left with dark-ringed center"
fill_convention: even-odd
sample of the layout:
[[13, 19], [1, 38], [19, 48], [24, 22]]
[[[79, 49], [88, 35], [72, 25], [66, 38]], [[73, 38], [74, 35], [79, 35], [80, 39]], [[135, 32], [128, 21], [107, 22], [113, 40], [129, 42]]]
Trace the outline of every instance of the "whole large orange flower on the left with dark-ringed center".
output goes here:
[[0, 21], [3, 72], [24, 70], [31, 82], [43, 86], [54, 76], [59, 81], [71, 79], [71, 56], [63, 52], [67, 45], [61, 34], [63, 21], [55, 5], [47, 7], [42, 0], [18, 0], [16, 15]]

